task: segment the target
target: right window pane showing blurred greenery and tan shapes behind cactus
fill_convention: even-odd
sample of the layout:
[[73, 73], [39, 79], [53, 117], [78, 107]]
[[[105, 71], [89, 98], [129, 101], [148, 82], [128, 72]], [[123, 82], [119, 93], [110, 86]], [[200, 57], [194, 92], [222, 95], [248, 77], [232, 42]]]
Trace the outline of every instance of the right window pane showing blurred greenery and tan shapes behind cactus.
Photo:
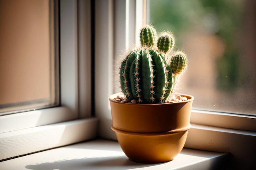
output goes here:
[[188, 55], [177, 91], [194, 108], [256, 115], [255, 16], [254, 0], [147, 1], [147, 23]]

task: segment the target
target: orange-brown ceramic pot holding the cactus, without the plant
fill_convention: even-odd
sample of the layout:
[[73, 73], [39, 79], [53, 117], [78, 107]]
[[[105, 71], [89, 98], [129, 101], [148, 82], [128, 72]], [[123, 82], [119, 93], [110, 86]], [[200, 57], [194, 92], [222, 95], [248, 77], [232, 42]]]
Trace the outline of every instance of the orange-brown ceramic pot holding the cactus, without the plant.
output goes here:
[[116, 102], [110, 96], [111, 129], [132, 161], [160, 163], [171, 161], [184, 147], [190, 128], [194, 97], [168, 104], [130, 104]]

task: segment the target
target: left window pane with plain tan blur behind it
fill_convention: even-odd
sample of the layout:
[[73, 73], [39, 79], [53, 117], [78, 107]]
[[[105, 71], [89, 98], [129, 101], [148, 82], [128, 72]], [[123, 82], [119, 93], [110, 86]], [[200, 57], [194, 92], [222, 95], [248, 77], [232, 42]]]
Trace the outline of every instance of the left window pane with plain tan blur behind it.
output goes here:
[[0, 115], [58, 104], [53, 0], [0, 0]]

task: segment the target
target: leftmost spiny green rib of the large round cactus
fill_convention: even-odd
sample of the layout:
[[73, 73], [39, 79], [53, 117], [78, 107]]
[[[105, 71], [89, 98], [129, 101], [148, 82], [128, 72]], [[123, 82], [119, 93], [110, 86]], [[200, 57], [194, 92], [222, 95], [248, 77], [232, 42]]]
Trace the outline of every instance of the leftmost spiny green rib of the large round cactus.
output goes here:
[[130, 85], [130, 78], [129, 78], [129, 72], [130, 72], [130, 66], [135, 59], [136, 53], [134, 51], [130, 52], [130, 54], [126, 57], [126, 59], [121, 64], [120, 69], [120, 83], [121, 83], [121, 89], [123, 93], [126, 95], [127, 99], [132, 100], [134, 99], [132, 95], [131, 85]]

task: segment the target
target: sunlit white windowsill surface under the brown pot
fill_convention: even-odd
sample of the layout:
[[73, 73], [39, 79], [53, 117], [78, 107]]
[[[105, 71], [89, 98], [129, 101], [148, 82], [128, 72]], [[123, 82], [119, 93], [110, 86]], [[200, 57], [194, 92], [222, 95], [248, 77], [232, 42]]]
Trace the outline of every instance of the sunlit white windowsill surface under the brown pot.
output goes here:
[[229, 155], [225, 153], [184, 148], [173, 161], [136, 163], [126, 157], [117, 141], [97, 139], [2, 161], [0, 167], [4, 170], [206, 170], [224, 169], [227, 159]]

